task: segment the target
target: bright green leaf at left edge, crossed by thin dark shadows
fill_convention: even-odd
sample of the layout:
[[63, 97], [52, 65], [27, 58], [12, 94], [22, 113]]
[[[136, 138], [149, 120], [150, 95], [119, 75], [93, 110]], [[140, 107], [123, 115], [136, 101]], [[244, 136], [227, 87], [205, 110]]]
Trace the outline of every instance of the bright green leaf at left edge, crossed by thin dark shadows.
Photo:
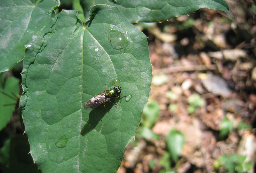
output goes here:
[[20, 92], [20, 80], [8, 77], [4, 83], [0, 82], [0, 131], [11, 119]]

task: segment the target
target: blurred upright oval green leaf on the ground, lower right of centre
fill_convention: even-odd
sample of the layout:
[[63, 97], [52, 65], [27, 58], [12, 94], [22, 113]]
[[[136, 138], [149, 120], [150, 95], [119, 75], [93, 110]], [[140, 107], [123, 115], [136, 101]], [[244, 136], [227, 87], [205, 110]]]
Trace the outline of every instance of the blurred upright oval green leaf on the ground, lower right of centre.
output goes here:
[[173, 161], [177, 162], [185, 141], [184, 134], [172, 129], [166, 136], [166, 145]]

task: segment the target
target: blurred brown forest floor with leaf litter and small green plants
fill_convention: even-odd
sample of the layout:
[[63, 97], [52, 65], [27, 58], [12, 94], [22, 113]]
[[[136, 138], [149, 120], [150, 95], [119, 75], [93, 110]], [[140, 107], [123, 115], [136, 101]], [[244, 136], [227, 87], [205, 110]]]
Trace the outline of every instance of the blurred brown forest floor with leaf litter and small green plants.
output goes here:
[[[135, 24], [148, 37], [148, 106], [156, 115], [150, 137], [140, 132], [142, 117], [118, 173], [255, 172], [255, 7], [250, 0], [227, 2], [229, 12], [201, 9]], [[174, 144], [166, 146], [172, 129], [184, 143], [169, 136]]]

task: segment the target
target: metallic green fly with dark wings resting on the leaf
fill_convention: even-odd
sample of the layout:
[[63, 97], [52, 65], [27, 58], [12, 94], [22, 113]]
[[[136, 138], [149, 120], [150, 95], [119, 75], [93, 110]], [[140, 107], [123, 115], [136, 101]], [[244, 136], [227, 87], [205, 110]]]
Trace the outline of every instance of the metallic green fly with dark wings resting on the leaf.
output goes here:
[[[96, 109], [96, 108], [102, 106], [102, 109], [103, 109], [102, 117], [101, 117], [101, 121], [102, 121], [106, 102], [107, 101], [111, 102], [110, 100], [113, 98], [126, 97], [126, 96], [120, 96], [120, 94], [121, 94], [121, 88], [119, 86], [115, 86], [114, 88], [110, 87], [110, 90], [107, 90], [107, 83], [106, 83], [106, 89], [103, 90], [103, 92], [101, 92], [100, 94], [97, 94], [97, 95], [93, 96], [92, 98], [88, 99], [83, 104], [83, 106], [85, 109], [86, 108]], [[114, 105], [116, 106], [115, 103], [114, 103]], [[117, 106], [116, 106], [116, 108], [117, 108]]]

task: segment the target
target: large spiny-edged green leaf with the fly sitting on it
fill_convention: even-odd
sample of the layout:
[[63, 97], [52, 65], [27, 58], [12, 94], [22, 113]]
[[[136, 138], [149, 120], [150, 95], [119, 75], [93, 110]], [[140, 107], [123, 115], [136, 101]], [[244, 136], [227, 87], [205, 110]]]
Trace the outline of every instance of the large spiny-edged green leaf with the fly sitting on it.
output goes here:
[[[115, 172], [148, 101], [146, 36], [116, 7], [96, 5], [90, 14], [83, 27], [75, 11], [60, 12], [26, 51], [20, 107], [43, 172]], [[104, 112], [85, 110], [105, 83], [129, 98], [107, 102]]]

